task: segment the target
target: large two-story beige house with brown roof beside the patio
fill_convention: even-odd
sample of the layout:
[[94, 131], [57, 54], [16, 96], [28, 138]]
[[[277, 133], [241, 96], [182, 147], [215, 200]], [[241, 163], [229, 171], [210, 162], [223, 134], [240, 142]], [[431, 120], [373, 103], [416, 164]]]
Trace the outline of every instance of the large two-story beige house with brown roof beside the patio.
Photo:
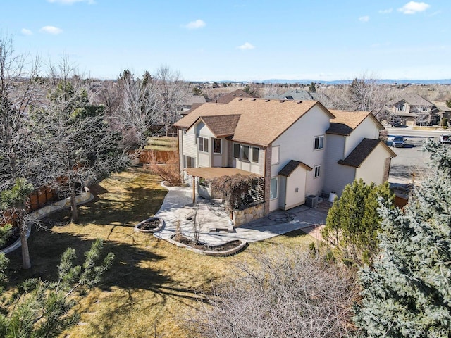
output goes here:
[[199, 106], [178, 128], [180, 171], [199, 194], [208, 180], [235, 173], [264, 182], [264, 214], [307, 196], [342, 192], [362, 178], [381, 184], [395, 155], [378, 139], [371, 113], [329, 111], [319, 101], [235, 99]]

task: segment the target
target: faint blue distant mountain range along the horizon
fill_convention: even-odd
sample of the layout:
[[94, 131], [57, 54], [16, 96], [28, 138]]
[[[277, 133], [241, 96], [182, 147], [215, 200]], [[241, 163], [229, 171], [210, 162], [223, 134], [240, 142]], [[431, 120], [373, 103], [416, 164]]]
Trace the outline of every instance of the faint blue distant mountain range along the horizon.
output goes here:
[[[451, 84], [451, 79], [438, 79], [438, 80], [401, 80], [401, 79], [378, 79], [381, 84]], [[218, 83], [234, 83], [240, 81], [228, 81], [221, 80], [217, 81]], [[248, 81], [242, 81], [248, 82]], [[323, 81], [323, 80], [311, 80], [311, 79], [302, 79], [302, 80], [286, 80], [286, 79], [269, 79], [269, 80], [255, 80], [251, 82], [256, 83], [276, 83], [276, 84], [310, 84], [311, 82], [321, 83], [321, 84], [349, 84], [352, 80], [331, 80], [331, 81]]]

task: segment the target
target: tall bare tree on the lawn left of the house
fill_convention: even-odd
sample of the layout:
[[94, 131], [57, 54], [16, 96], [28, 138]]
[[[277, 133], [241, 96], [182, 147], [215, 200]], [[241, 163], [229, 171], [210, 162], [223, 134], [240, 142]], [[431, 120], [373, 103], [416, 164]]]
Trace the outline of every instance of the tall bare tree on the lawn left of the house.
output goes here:
[[104, 118], [103, 106], [89, 104], [87, 82], [68, 60], [53, 65], [52, 74], [58, 84], [49, 93], [44, 111], [49, 125], [40, 138], [49, 144], [53, 184], [63, 196], [70, 197], [72, 219], [76, 221], [77, 194], [88, 184], [124, 168], [128, 158], [119, 145], [119, 134]]

